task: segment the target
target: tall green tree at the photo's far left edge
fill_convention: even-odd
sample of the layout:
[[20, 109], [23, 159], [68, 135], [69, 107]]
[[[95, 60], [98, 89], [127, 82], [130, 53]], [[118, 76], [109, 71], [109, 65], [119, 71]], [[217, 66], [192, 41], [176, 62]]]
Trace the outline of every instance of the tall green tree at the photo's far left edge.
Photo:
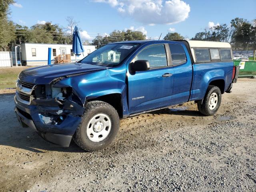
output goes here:
[[8, 19], [9, 5], [13, 0], [0, 0], [0, 50], [10, 49], [10, 42], [14, 40], [14, 24]]

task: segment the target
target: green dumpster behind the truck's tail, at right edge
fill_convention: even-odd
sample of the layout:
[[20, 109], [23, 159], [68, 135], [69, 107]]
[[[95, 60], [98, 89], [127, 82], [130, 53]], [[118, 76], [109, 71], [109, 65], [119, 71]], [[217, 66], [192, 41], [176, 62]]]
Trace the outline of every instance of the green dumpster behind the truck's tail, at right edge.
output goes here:
[[240, 66], [238, 77], [256, 77], [256, 60], [234, 60], [235, 66]]

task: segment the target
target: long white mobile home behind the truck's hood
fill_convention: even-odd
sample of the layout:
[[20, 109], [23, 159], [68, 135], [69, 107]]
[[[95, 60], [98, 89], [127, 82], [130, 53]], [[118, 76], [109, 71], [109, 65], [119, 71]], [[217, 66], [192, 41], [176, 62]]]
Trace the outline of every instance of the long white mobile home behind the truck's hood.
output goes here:
[[70, 44], [42, 44], [42, 43], [22, 43], [21, 60], [22, 65], [36, 66], [47, 65], [48, 48], [52, 48], [51, 60], [60, 54], [70, 54], [71, 62], [79, 61], [95, 49], [94, 45], [84, 45], [84, 54], [75, 56]]

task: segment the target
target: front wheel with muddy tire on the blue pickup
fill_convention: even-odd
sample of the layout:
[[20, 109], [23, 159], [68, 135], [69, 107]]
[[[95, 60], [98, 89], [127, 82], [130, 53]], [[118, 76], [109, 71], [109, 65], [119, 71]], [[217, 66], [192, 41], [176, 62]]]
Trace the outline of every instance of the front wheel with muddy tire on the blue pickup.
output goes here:
[[116, 109], [106, 102], [92, 101], [86, 104], [73, 140], [80, 148], [92, 152], [108, 146], [118, 130], [119, 116]]

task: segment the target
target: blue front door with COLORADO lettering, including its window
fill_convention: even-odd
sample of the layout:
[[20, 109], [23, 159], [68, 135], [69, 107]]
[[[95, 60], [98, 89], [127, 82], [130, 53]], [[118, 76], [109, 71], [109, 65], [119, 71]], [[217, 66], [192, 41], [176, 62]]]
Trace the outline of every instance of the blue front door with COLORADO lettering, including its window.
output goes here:
[[166, 50], [168, 47], [164, 44], [150, 45], [132, 60], [147, 60], [150, 70], [128, 72], [130, 114], [171, 104], [174, 70], [168, 62]]

